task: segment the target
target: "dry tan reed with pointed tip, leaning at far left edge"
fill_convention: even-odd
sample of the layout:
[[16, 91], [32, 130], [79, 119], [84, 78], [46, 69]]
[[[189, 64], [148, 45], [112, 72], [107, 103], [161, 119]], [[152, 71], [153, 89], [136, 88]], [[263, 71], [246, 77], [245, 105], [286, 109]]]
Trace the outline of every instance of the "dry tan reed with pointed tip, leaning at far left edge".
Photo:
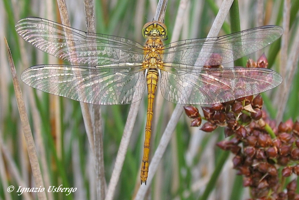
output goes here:
[[[15, 95], [16, 95], [16, 99], [17, 99], [18, 110], [19, 110], [19, 114], [20, 114], [20, 118], [21, 118], [23, 133], [24, 133], [24, 137], [25, 137], [25, 141], [26, 141], [28, 157], [29, 157], [29, 161], [30, 161], [30, 165], [31, 165], [31, 169], [32, 169], [33, 177], [34, 177], [34, 182], [35, 182], [36, 187], [40, 186], [41, 188], [44, 188], [43, 178], [42, 178], [41, 170], [39, 167], [39, 160], [37, 157], [36, 148], [35, 148], [32, 132], [31, 132], [30, 125], [29, 125], [29, 120], [28, 120], [28, 116], [27, 116], [27, 112], [26, 112], [26, 108], [25, 108], [25, 103], [23, 101], [23, 94], [21, 91], [20, 84], [18, 82], [16, 69], [13, 64], [13, 58], [12, 58], [10, 49], [8, 47], [6, 38], [5, 38], [5, 45], [6, 45], [7, 55], [8, 55], [8, 62], [10, 64], [10, 70], [12, 73], [13, 87], [14, 87], [14, 91], [15, 91]], [[47, 199], [45, 191], [38, 192], [37, 196], [38, 196], [39, 200]]]

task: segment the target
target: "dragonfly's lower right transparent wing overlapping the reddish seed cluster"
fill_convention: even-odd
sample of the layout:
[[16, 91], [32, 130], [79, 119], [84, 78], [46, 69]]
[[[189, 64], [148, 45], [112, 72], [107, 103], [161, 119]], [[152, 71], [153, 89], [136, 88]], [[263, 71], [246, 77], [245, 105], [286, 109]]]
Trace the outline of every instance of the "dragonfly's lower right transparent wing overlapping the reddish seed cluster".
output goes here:
[[172, 64], [161, 69], [160, 88], [165, 99], [178, 104], [224, 103], [262, 93], [282, 82], [266, 68], [198, 68]]

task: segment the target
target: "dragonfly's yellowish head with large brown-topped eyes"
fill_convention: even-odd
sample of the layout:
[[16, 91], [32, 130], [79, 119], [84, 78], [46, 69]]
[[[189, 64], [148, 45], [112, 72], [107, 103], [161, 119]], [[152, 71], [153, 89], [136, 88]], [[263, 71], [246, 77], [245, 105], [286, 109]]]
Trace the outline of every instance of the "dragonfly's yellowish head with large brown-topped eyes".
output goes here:
[[161, 22], [147, 22], [142, 28], [142, 35], [145, 38], [159, 37], [160, 39], [167, 39], [167, 28]]

